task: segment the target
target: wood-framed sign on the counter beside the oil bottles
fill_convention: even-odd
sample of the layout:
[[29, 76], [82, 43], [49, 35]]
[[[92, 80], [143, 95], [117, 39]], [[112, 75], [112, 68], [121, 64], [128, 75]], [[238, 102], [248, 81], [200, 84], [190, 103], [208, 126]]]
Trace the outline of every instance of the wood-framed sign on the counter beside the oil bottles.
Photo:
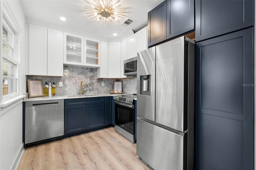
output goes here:
[[41, 97], [43, 93], [43, 80], [28, 79], [28, 97]]

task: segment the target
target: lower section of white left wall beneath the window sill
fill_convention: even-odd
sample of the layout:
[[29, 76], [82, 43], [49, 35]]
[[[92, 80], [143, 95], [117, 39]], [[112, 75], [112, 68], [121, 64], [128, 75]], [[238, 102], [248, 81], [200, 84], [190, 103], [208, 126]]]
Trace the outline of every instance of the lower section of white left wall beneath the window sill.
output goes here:
[[0, 170], [15, 169], [23, 151], [22, 103], [12, 107], [0, 116]]

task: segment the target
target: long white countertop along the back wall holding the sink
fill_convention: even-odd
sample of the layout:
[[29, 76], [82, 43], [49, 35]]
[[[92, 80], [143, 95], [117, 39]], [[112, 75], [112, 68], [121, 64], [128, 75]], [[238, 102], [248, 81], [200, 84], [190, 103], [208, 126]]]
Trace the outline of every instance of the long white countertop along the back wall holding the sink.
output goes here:
[[44, 97], [26, 97], [23, 101], [43, 101], [43, 100], [59, 100], [59, 99], [78, 99], [78, 98], [89, 98], [89, 97], [108, 97], [108, 96], [117, 96], [117, 95], [126, 95], [126, 94], [92, 94], [92, 95], [65, 95], [65, 96], [44, 96]]

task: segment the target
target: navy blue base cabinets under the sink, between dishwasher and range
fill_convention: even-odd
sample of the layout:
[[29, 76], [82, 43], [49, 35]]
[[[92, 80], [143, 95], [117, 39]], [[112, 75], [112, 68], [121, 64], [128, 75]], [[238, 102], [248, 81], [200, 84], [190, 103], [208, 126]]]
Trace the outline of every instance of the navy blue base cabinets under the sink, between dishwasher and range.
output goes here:
[[72, 136], [112, 125], [113, 97], [66, 99], [64, 136]]

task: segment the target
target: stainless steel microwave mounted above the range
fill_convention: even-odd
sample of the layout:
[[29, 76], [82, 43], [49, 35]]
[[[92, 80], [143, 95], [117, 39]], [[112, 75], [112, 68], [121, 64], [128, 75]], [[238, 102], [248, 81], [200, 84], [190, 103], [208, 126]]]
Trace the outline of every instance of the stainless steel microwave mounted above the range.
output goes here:
[[124, 60], [124, 75], [137, 76], [137, 57]]

